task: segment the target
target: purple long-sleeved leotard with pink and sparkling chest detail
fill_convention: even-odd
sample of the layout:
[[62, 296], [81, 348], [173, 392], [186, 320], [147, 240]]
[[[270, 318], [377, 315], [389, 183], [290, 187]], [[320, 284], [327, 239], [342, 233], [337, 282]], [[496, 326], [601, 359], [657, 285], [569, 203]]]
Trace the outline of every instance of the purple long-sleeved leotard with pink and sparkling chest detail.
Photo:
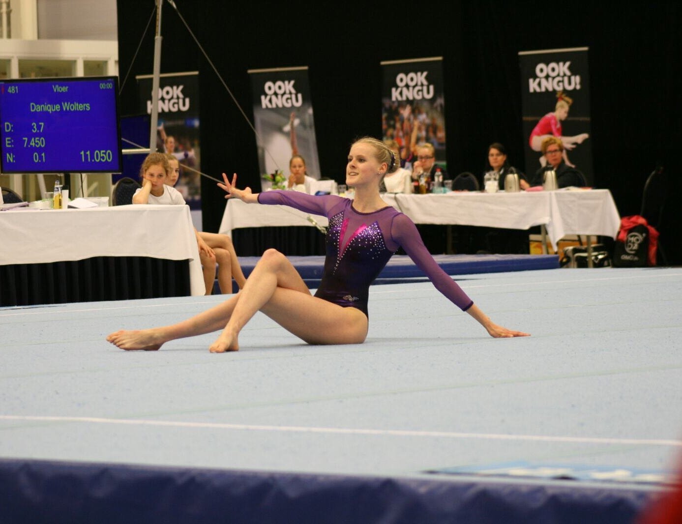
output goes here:
[[258, 202], [284, 204], [329, 219], [325, 269], [315, 293], [319, 298], [342, 307], [356, 307], [367, 315], [370, 283], [402, 247], [452, 303], [462, 311], [473, 305], [462, 288], [436, 264], [413, 221], [391, 206], [359, 213], [349, 198], [298, 191], [267, 191], [258, 194]]

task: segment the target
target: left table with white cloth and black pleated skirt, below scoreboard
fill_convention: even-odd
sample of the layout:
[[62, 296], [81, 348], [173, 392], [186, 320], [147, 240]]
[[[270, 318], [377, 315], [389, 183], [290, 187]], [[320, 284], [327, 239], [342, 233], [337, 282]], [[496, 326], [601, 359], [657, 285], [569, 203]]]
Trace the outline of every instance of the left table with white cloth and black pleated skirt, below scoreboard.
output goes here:
[[0, 305], [203, 295], [188, 206], [0, 212]]

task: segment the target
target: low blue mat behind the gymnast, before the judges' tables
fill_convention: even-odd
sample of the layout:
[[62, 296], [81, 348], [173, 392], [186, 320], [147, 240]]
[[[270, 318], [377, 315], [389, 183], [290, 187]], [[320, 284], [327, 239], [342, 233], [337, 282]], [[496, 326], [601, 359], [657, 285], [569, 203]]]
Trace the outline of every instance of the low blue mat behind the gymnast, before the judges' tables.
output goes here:
[[[240, 257], [244, 275], [249, 275], [260, 257]], [[322, 277], [323, 256], [290, 256], [291, 263], [304, 280]], [[475, 273], [504, 273], [533, 269], [559, 268], [557, 255], [434, 255], [434, 259], [448, 275], [471, 275]], [[395, 279], [426, 278], [421, 269], [406, 255], [394, 255], [375, 283], [396, 283]]]

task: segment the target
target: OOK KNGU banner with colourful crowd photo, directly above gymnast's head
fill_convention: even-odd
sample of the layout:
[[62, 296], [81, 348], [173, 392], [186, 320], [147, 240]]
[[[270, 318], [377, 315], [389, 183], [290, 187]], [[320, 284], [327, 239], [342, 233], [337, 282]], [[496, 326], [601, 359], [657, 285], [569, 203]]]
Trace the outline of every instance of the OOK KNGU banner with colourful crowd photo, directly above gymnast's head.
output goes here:
[[436, 162], [445, 166], [443, 57], [383, 61], [381, 67], [383, 140], [398, 142], [403, 164], [417, 144], [431, 142]]

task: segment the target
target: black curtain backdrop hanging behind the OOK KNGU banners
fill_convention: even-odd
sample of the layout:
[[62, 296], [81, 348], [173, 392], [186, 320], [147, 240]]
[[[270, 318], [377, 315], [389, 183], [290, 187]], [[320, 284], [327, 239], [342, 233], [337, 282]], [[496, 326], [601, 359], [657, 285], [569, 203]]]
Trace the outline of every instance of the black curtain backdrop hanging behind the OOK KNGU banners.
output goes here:
[[[479, 174], [491, 142], [523, 164], [517, 53], [588, 46], [595, 186], [612, 191], [621, 215], [638, 214], [644, 181], [663, 164], [671, 176], [661, 233], [671, 262], [682, 264], [682, 184], [673, 164], [682, 144], [679, 2], [175, 4], [250, 120], [248, 69], [308, 65], [321, 174], [337, 181], [353, 139], [381, 134], [380, 61], [443, 57], [448, 169]], [[121, 82], [132, 63], [121, 114], [137, 110], [134, 76], [152, 72], [155, 18], [143, 34], [154, 5], [118, 0]], [[258, 188], [254, 133], [168, 3], [162, 35], [162, 72], [200, 72], [203, 171], [237, 172], [240, 185]], [[213, 181], [203, 179], [202, 190], [204, 229], [216, 231], [224, 199]]]

